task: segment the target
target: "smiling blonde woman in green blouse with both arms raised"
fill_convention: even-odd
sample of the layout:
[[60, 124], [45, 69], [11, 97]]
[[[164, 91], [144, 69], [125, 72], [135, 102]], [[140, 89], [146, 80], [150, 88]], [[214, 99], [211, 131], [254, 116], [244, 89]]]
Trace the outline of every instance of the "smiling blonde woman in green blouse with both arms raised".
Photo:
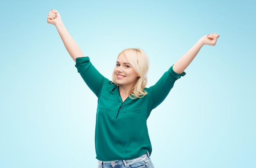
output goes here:
[[214, 46], [219, 37], [205, 35], [162, 75], [146, 88], [148, 57], [141, 49], [119, 53], [112, 81], [103, 77], [84, 57], [81, 49], [65, 28], [61, 15], [51, 10], [47, 22], [56, 26], [63, 43], [76, 62], [76, 68], [89, 88], [98, 97], [95, 148], [99, 168], [154, 168], [152, 147], [146, 120], [170, 92], [174, 82], [184, 76], [203, 45]]

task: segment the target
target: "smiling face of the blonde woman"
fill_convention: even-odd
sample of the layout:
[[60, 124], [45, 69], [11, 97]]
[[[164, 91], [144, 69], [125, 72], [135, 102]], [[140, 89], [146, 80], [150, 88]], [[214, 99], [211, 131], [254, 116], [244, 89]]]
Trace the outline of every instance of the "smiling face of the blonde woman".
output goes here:
[[128, 86], [130, 89], [135, 85], [139, 75], [127, 61], [124, 53], [117, 58], [114, 69], [115, 80], [119, 86]]

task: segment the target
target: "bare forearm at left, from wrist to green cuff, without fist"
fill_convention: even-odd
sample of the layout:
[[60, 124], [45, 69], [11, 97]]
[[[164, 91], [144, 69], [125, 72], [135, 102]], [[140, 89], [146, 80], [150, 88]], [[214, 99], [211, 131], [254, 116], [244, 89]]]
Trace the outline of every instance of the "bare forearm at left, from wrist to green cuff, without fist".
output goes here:
[[70, 33], [67, 31], [63, 22], [56, 24], [56, 29], [72, 59], [76, 61], [77, 57], [83, 57], [83, 52], [81, 51], [78, 44], [74, 41]]

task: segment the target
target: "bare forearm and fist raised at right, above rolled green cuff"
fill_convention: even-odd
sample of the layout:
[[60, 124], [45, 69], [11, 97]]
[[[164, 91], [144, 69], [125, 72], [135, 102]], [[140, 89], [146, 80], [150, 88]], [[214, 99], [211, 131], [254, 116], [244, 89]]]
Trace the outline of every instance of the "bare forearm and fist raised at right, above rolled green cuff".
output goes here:
[[185, 53], [174, 65], [173, 71], [178, 74], [182, 74], [184, 70], [189, 66], [189, 64], [193, 61], [195, 56], [198, 54], [202, 46], [211, 45], [215, 46], [217, 39], [220, 37], [217, 33], [212, 33], [209, 35], [205, 35], [197, 43], [187, 52]]

